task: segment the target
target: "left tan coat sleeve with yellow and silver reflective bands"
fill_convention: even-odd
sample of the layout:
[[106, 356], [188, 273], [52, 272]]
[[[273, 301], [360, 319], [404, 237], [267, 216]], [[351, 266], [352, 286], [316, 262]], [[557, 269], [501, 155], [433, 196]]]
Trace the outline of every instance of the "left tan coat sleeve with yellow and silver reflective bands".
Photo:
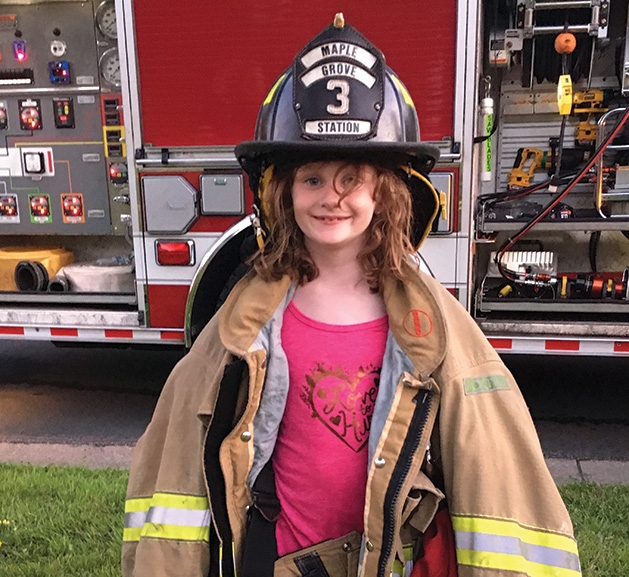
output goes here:
[[[197, 346], [199, 344], [199, 346]], [[170, 374], [134, 450], [122, 545], [123, 577], [206, 577], [210, 507], [203, 470], [207, 418], [224, 351], [202, 343]]]

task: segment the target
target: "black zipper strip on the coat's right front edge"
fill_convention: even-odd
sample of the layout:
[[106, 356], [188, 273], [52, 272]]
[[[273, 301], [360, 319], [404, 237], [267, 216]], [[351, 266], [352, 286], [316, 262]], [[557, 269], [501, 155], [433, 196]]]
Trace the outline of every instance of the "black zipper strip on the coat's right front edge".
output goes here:
[[384, 497], [384, 530], [382, 535], [382, 550], [380, 552], [380, 559], [378, 562], [378, 577], [385, 577], [385, 569], [387, 566], [387, 560], [391, 554], [393, 548], [394, 534], [395, 534], [395, 508], [400, 497], [400, 491], [402, 485], [408, 476], [413, 461], [413, 456], [419, 447], [419, 443], [426, 427], [426, 421], [428, 420], [428, 413], [430, 412], [430, 405], [432, 401], [432, 395], [430, 391], [423, 391], [424, 395], [419, 399], [419, 393], [415, 397], [417, 407], [413, 413], [411, 424], [404, 439], [402, 450], [400, 451], [400, 457], [395, 464], [393, 474], [391, 475], [391, 482], [387, 488], [387, 492]]

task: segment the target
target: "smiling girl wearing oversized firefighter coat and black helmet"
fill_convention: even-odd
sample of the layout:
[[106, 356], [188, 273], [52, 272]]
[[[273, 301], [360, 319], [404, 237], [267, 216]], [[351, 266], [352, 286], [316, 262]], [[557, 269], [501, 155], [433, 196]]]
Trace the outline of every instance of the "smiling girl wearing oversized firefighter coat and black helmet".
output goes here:
[[580, 575], [516, 383], [410, 256], [438, 150], [382, 54], [337, 17], [235, 152], [260, 250], [138, 442], [123, 575]]

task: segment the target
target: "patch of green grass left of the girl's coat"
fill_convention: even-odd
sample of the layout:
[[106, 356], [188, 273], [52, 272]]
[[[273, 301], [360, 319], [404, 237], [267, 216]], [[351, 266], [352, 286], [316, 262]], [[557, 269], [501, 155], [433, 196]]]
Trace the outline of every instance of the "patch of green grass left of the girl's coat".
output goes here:
[[119, 577], [127, 479], [114, 469], [0, 464], [0, 575]]

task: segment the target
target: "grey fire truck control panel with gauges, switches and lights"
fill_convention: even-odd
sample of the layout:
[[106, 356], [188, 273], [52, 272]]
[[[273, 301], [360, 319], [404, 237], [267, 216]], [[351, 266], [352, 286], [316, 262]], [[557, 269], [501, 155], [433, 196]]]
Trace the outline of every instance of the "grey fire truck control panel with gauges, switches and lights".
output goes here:
[[124, 235], [113, 0], [0, 6], [0, 235]]

